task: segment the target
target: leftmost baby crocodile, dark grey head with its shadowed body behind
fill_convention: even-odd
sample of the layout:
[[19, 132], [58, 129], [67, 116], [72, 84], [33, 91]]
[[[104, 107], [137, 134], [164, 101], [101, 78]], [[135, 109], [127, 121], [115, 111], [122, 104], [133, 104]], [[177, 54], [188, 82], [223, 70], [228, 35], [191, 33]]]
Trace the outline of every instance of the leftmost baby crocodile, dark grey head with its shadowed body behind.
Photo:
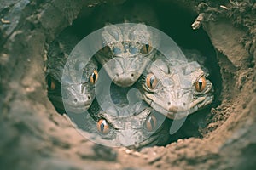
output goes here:
[[[75, 113], [87, 110], [94, 97], [94, 84], [97, 81], [97, 64], [91, 59], [87, 64], [81, 59], [82, 54], [76, 54], [72, 63], [67, 65], [67, 73], [63, 76], [67, 57], [79, 42], [69, 31], [64, 31], [49, 46], [47, 60], [48, 96], [57, 111], [63, 113], [65, 109]], [[76, 73], [83, 71], [82, 77]], [[64, 109], [64, 105], [65, 109]]]

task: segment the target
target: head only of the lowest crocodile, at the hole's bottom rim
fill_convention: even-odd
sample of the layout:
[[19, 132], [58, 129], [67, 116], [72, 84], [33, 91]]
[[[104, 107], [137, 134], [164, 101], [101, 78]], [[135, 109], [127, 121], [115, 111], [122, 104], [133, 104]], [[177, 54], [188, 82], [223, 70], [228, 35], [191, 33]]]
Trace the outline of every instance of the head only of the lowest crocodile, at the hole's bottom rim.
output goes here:
[[113, 116], [101, 111], [98, 114], [97, 133], [115, 146], [139, 149], [143, 146], [166, 144], [169, 123], [165, 116], [146, 107], [131, 116]]

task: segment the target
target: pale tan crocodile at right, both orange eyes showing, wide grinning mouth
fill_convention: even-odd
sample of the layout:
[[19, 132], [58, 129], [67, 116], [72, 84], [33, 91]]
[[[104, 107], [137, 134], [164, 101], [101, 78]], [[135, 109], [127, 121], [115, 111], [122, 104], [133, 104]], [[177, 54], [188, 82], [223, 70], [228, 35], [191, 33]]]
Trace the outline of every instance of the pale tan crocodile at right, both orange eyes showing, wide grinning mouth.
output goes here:
[[159, 55], [143, 75], [143, 99], [171, 119], [188, 116], [213, 100], [212, 83], [203, 69], [198, 62], [183, 60], [175, 52], [170, 59]]

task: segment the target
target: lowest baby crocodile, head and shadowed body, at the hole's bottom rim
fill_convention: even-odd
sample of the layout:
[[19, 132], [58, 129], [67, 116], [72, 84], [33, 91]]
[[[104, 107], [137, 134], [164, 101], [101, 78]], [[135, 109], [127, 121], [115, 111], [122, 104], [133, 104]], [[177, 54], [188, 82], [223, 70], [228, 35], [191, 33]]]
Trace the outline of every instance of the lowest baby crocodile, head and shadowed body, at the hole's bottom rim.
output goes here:
[[[113, 84], [111, 91], [118, 98], [113, 102], [119, 107], [125, 107], [127, 99], [124, 94], [127, 89]], [[109, 108], [103, 111], [95, 100], [87, 114], [68, 116], [83, 130], [86, 138], [98, 144], [125, 146], [131, 149], [167, 144], [171, 123], [166, 116], [154, 111], [145, 103], [132, 105], [125, 112], [113, 105], [108, 106]]]

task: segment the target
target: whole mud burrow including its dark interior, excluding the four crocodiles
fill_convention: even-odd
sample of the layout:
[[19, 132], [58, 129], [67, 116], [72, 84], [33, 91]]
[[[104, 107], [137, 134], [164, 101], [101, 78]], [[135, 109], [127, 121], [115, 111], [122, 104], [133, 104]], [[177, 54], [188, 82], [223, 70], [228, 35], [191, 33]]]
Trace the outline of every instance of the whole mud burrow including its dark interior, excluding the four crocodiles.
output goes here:
[[[212, 105], [188, 116], [168, 144], [139, 151], [108, 148], [81, 136], [72, 122], [55, 111], [47, 98], [45, 82], [49, 44], [62, 31], [85, 37], [113, 18], [122, 22], [117, 10], [122, 8], [125, 14], [135, 3], [140, 14], [154, 20], [152, 26], [172, 37], [178, 46], [196, 49], [206, 57], [205, 66], [214, 86]], [[0, 27], [3, 44], [0, 156], [4, 155], [0, 165], [13, 167], [15, 161], [19, 168], [43, 169], [83, 169], [85, 163], [86, 168], [96, 169], [253, 167], [256, 41], [253, 17], [241, 10], [245, 6], [245, 10], [253, 11], [255, 5], [161, 0], [146, 6], [143, 1], [133, 0], [104, 3], [57, 0], [52, 4], [24, 1], [4, 10], [0, 8], [1, 18], [19, 20], [13, 22], [3, 17]], [[154, 16], [149, 8], [154, 9]], [[197, 18], [199, 14], [204, 20]], [[243, 19], [242, 14], [252, 20]], [[195, 21], [201, 26], [197, 30], [191, 26]], [[10, 150], [13, 154], [6, 155]]]

